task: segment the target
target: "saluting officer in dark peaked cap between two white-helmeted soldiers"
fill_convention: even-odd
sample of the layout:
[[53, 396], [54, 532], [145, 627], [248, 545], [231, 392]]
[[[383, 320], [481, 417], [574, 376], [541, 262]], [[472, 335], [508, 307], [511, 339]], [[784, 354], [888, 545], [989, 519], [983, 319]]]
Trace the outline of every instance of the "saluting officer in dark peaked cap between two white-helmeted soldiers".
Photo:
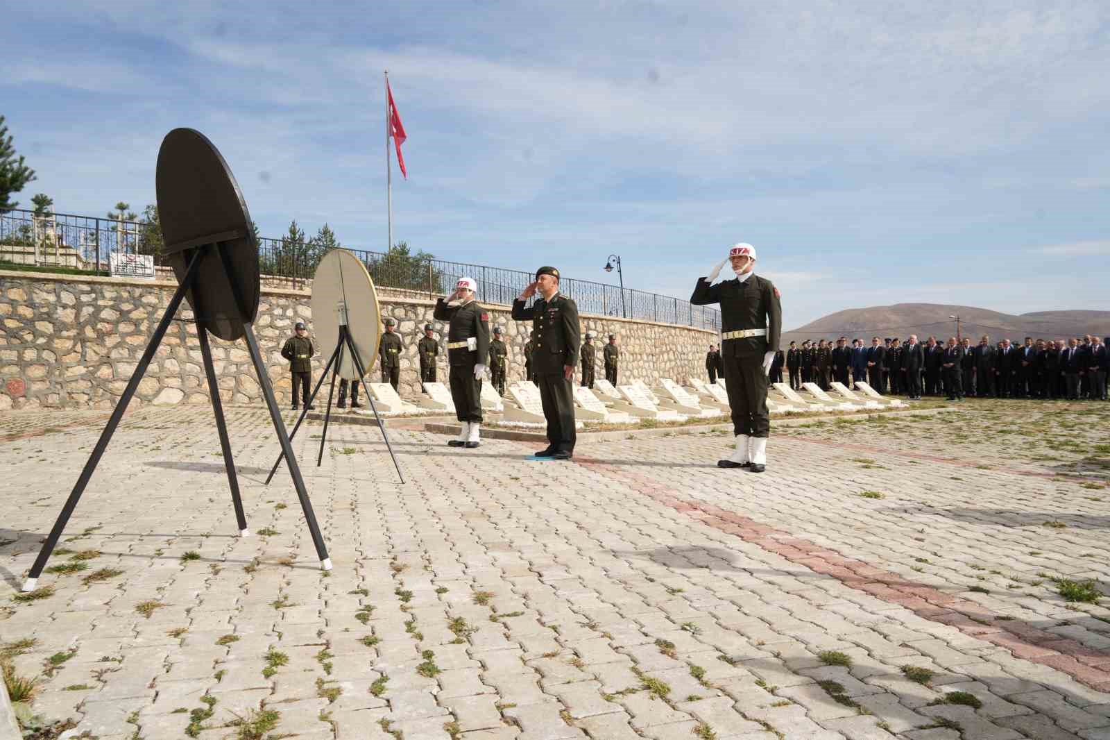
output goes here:
[[[531, 307], [525, 301], [536, 292]], [[578, 364], [578, 307], [558, 292], [558, 270], [542, 267], [536, 280], [513, 301], [513, 318], [532, 321], [535, 346], [532, 364], [539, 386], [539, 398], [547, 420], [547, 448], [537, 458], [569, 460], [574, 456], [574, 391], [571, 379]]]

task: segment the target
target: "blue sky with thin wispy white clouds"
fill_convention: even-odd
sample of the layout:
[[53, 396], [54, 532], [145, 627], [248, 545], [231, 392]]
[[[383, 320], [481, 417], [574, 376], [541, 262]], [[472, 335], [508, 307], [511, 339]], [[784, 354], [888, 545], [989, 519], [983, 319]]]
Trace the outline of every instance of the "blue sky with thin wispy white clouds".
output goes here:
[[[901, 7], [899, 7], [901, 6]], [[394, 239], [688, 298], [748, 241], [787, 327], [845, 308], [1110, 309], [1110, 3], [52, 2], [6, 10], [18, 196], [154, 200], [221, 149], [264, 236]], [[727, 268], [726, 268], [727, 270]]]

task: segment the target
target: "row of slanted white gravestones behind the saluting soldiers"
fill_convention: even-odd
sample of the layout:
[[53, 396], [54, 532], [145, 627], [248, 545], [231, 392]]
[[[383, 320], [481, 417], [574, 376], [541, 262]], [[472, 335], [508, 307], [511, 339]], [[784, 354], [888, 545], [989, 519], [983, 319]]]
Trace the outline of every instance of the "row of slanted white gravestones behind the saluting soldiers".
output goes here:
[[[728, 393], [724, 379], [708, 383], [698, 378], [690, 378], [689, 382], [689, 388], [683, 388], [674, 380], [663, 379], [655, 390], [639, 380], [616, 387], [607, 380], [597, 380], [593, 390], [575, 384], [575, 416], [579, 421], [619, 424], [636, 423], [645, 419], [656, 421], [713, 419], [728, 412]], [[440, 382], [424, 383], [425, 393], [415, 403], [404, 401], [389, 383], [369, 383], [369, 386], [377, 402], [379, 411], [385, 416], [455, 412], [451, 392]], [[905, 406], [898, 399], [880, 396], [865, 382], [857, 382], [856, 388], [859, 393], [834, 382], [831, 383], [833, 392], [836, 393], [834, 398], [815, 383], [803, 383], [801, 392], [805, 396], [786, 383], [773, 383], [767, 406], [773, 414]], [[507, 391], [508, 397], [503, 399], [491, 383], [483, 383], [483, 409], [500, 413], [503, 421], [517, 426], [545, 423], [543, 401], [535, 383], [528, 380], [515, 382]]]

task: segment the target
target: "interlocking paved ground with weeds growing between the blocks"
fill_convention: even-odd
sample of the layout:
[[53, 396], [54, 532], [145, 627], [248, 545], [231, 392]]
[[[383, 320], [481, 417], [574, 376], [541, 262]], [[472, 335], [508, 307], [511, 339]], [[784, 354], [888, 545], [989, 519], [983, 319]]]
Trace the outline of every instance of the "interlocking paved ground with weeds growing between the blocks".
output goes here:
[[313, 427], [330, 574], [289, 476], [262, 486], [263, 412], [230, 410], [239, 539], [210, 411], [144, 409], [51, 560], [85, 568], [18, 602], [102, 418], [0, 426], [0, 642], [78, 733], [1110, 738], [1110, 599], [1053, 580], [1108, 593], [1108, 404], [815, 422], [761, 476], [715, 467], [727, 434], [537, 463], [396, 430], [404, 486], [373, 428], [316, 468]]

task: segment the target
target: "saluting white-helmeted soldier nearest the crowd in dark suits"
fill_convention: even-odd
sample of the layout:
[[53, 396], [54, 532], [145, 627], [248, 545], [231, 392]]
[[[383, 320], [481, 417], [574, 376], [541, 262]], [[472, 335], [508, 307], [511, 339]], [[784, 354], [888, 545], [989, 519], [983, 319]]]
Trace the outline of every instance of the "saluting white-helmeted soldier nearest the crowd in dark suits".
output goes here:
[[[725, 262], [731, 262], [736, 278], [714, 286]], [[733, 412], [736, 449], [717, 464], [763, 472], [767, 462], [767, 376], [778, 351], [783, 331], [783, 307], [778, 289], [770, 280], [755, 274], [756, 249], [751, 244], [733, 247], [706, 278], [698, 278], [690, 296], [694, 306], [720, 303], [722, 357], [725, 383]]]

